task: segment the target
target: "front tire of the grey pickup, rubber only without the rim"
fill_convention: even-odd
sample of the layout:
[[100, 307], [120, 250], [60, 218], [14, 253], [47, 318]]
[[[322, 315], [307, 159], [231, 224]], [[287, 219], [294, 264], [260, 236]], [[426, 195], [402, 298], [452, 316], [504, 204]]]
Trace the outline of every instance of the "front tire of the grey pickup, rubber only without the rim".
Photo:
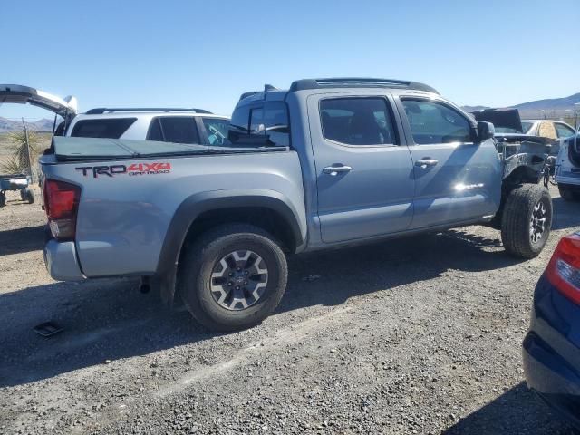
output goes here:
[[[532, 237], [532, 220], [537, 205], [543, 206], [546, 221], [541, 237]], [[534, 258], [546, 246], [552, 227], [552, 198], [546, 188], [524, 184], [513, 189], [506, 199], [501, 219], [501, 240], [507, 253], [521, 258]]]

